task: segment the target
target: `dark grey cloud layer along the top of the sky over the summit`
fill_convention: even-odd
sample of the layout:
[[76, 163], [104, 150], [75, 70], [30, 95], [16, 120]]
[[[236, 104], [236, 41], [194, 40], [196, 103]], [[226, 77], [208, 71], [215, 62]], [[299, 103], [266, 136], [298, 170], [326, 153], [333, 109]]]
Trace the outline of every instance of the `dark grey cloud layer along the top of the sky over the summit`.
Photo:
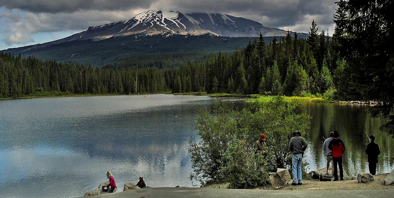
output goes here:
[[[272, 27], [292, 26], [305, 16], [332, 23], [335, 0], [0, 0], [0, 6], [32, 13], [126, 11], [130, 9], [178, 10], [185, 13], [226, 13], [243, 16]], [[130, 18], [131, 16], [125, 16]]]

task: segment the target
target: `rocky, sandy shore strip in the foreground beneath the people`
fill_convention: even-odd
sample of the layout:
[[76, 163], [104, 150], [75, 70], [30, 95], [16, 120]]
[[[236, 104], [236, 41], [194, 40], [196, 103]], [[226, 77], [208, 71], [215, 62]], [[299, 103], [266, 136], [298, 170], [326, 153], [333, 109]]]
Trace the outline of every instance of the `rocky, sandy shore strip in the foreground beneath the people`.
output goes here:
[[[356, 190], [356, 191], [363, 191], [363, 190], [394, 190], [394, 170], [391, 173], [386, 174], [378, 174], [372, 176], [372, 174], [367, 172], [359, 172], [357, 176], [348, 176], [347, 174], [344, 175], [344, 181], [319, 181], [312, 178], [312, 172], [316, 172], [318, 174], [325, 174], [326, 168], [312, 170], [310, 172], [310, 177], [307, 180], [303, 180], [302, 186], [291, 186], [289, 185], [292, 182], [292, 176], [289, 174], [290, 172], [287, 169], [278, 169], [277, 172], [270, 173], [268, 185], [264, 187], [259, 187], [255, 189], [256, 196], [258, 197], [260, 193], [258, 191], [324, 191], [324, 190]], [[331, 172], [331, 167], [329, 172]], [[85, 196], [111, 196], [111, 197], [128, 197], [129, 195], [136, 195], [141, 193], [151, 193], [155, 191], [163, 191], [164, 192], [174, 192], [178, 193], [180, 191], [196, 191], [196, 192], [203, 192], [203, 191], [214, 191], [217, 190], [228, 190], [228, 191], [242, 191], [242, 189], [228, 189], [228, 183], [222, 184], [214, 184], [208, 185], [201, 188], [186, 188], [186, 187], [162, 187], [162, 188], [151, 188], [151, 187], [144, 187], [139, 188], [134, 183], [125, 183], [122, 192], [111, 193], [109, 194], [108, 191], [102, 191], [102, 186], [108, 184], [108, 181], [102, 182], [97, 188], [95, 188], [91, 192], [86, 192]], [[177, 190], [178, 189], [178, 190]], [[213, 190], [212, 190], [213, 189]], [[131, 191], [131, 192], [130, 192]], [[248, 190], [251, 191], [251, 190]], [[160, 193], [159, 193], [160, 194]], [[163, 194], [160, 194], [163, 195]], [[180, 193], [182, 195], [182, 193]], [[193, 194], [183, 194], [184, 197], [194, 197]], [[199, 195], [199, 194], [197, 194]], [[170, 196], [170, 195], [169, 195]], [[145, 196], [146, 197], [146, 196]], [[164, 196], [166, 197], [166, 196]], [[204, 197], [204, 196], [201, 196]], [[221, 197], [221, 196], [218, 196]], [[253, 197], [253, 196], [252, 196]]]

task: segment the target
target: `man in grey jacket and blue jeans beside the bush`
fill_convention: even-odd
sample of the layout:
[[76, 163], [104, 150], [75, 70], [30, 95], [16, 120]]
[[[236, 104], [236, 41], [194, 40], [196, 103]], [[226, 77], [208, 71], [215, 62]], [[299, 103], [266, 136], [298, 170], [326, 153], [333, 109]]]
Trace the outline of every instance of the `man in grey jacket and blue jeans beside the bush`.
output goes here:
[[[293, 153], [292, 168], [293, 168], [293, 183], [292, 185], [302, 185], [302, 155], [307, 149], [307, 141], [301, 137], [301, 132], [293, 133], [293, 138], [290, 139], [289, 150]], [[298, 184], [297, 184], [298, 179]]]

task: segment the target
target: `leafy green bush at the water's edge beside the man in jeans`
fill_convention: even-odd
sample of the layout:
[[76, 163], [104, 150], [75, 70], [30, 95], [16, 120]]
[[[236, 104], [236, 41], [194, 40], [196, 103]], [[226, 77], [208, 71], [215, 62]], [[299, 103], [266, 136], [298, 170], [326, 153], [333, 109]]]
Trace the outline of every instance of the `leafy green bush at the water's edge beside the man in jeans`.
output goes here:
[[[264, 172], [264, 169], [256, 168], [262, 161], [254, 161], [251, 156], [254, 143], [262, 132], [266, 134], [269, 152], [265, 160], [277, 162], [281, 168], [290, 168], [292, 155], [288, 142], [292, 133], [299, 130], [305, 134], [309, 128], [309, 116], [298, 111], [299, 103], [284, 101], [283, 97], [247, 103], [241, 111], [232, 110], [228, 102], [219, 101], [211, 111], [201, 111], [196, 125], [201, 139], [191, 139], [188, 148], [195, 172], [191, 179], [199, 180], [202, 185], [230, 181], [231, 187], [236, 188], [265, 183], [262, 173], [257, 174], [260, 177], [258, 182], [256, 178], [250, 178], [253, 171]], [[240, 144], [239, 141], [247, 146], [234, 145]], [[241, 147], [244, 153], [240, 152]], [[247, 165], [237, 170], [240, 164]]]

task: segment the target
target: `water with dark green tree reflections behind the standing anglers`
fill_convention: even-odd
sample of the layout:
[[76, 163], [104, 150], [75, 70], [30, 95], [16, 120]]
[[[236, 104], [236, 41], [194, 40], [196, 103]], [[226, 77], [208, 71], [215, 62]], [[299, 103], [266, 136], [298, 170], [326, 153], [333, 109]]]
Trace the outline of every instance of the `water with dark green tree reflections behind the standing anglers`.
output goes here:
[[[343, 156], [344, 170], [355, 175], [358, 171], [368, 170], [368, 159], [365, 154], [366, 143], [369, 143], [366, 133], [373, 134], [379, 145], [381, 155], [377, 172], [391, 171], [393, 168], [394, 141], [387, 132], [380, 130], [384, 123], [382, 119], [372, 118], [366, 111], [366, 106], [303, 103], [302, 111], [311, 117], [311, 125], [307, 139], [314, 148], [314, 163], [316, 167], [325, 167], [325, 156], [322, 145], [323, 136], [327, 138], [329, 132], [337, 130], [346, 145]], [[365, 131], [365, 132], [364, 132]]]

